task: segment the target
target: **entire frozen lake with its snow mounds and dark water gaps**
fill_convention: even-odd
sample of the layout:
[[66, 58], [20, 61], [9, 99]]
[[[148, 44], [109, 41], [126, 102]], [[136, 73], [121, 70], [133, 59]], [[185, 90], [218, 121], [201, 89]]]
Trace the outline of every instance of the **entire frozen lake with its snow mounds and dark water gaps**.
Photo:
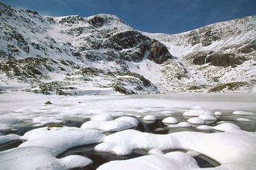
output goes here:
[[[44, 104], [47, 101], [52, 104]], [[1, 164], [12, 167], [12, 162], [19, 164], [19, 162], [28, 161], [28, 164], [31, 164], [30, 168], [42, 167], [49, 162], [63, 168], [71, 166], [68, 165], [68, 161], [74, 159], [73, 155], [80, 155], [78, 158], [75, 157], [77, 163], [73, 164], [72, 168], [77, 168], [76, 166], [79, 165], [78, 167], [82, 167], [80, 169], [96, 169], [104, 164], [99, 169], [109, 169], [109, 166], [119, 169], [127, 163], [138, 165], [139, 168], [145, 166], [138, 164], [144, 159], [145, 162], [159, 159], [154, 166], [164, 169], [166, 167], [162, 161], [172, 160], [177, 156], [181, 156], [181, 160], [187, 159], [188, 156], [188, 160], [184, 161], [194, 164], [194, 168], [224, 167], [225, 169], [230, 164], [237, 166], [235, 169], [250, 168], [251, 164], [248, 162], [253, 162], [254, 159], [252, 160], [249, 153], [255, 154], [256, 150], [255, 144], [253, 144], [256, 139], [255, 103], [255, 93], [80, 96], [37, 95], [20, 91], [3, 93], [0, 98], [0, 149], [2, 151], [0, 158], [5, 158], [6, 161], [0, 161], [0, 167]], [[204, 117], [193, 114], [201, 114]], [[95, 115], [98, 116], [95, 117]], [[92, 117], [95, 117], [94, 120], [90, 120]], [[149, 120], [145, 120], [145, 117], [149, 117]], [[167, 117], [169, 120], [165, 119]], [[207, 120], [208, 117], [212, 120]], [[168, 121], [176, 122], [168, 123]], [[51, 124], [63, 124], [64, 127], [47, 129]], [[95, 133], [93, 129], [103, 133], [100, 131]], [[247, 134], [247, 132], [249, 133]], [[126, 135], [123, 136], [122, 133]], [[10, 136], [10, 134], [19, 136]], [[84, 138], [82, 134], [85, 136], [93, 134], [94, 137]], [[144, 140], [144, 144], [140, 145], [143, 142], [140, 138], [144, 139], [145, 137], [142, 136], [147, 134], [152, 134], [152, 136], [149, 135], [150, 138], [147, 137], [148, 141], [152, 142]], [[240, 139], [238, 136], [244, 137]], [[167, 140], [167, 138], [170, 139]], [[188, 142], [184, 143], [183, 138]], [[60, 140], [57, 145], [55, 144], [56, 140]], [[116, 142], [119, 140], [120, 142]], [[165, 140], [170, 142], [166, 143]], [[198, 142], [193, 145], [196, 140]], [[230, 140], [235, 140], [237, 143], [230, 144]], [[53, 141], [53, 144], [49, 141]], [[125, 141], [130, 142], [126, 144]], [[158, 141], [156, 145], [154, 141]], [[176, 141], [176, 143], [170, 145], [171, 141]], [[205, 141], [207, 142], [205, 143]], [[130, 143], [133, 144], [129, 147]], [[106, 147], [109, 144], [111, 147]], [[209, 146], [212, 144], [217, 148], [212, 147], [213, 150], [209, 150]], [[239, 148], [244, 150], [235, 149], [236, 144], [239, 144]], [[117, 146], [117, 150], [115, 146]], [[42, 151], [42, 147], [46, 147], [46, 150]], [[228, 150], [219, 150], [221, 147], [230, 149], [230, 151], [234, 150], [234, 154], [238, 156], [232, 158], [234, 161], [240, 159], [239, 155], [243, 155], [242, 153], [248, 153], [248, 157], [241, 158], [247, 164], [244, 164], [244, 161], [238, 164], [232, 162], [230, 157], [234, 154], [230, 155]], [[53, 149], [51, 151], [53, 158], [50, 160], [48, 160], [48, 154], [50, 154], [48, 148]], [[113, 150], [109, 150], [110, 148]], [[26, 155], [26, 153], [30, 155], [31, 152], [34, 153], [35, 149], [39, 153], [42, 152], [42, 156], [46, 156], [47, 159], [44, 158], [41, 165], [34, 165], [33, 160], [20, 160], [20, 158], [12, 160], [14, 155], [7, 149], [10, 151], [14, 149], [13, 151], [17, 152], [13, 153], [15, 155], [21, 154], [19, 153], [21, 149], [24, 149], [22, 155]], [[155, 158], [156, 155], [161, 156]], [[89, 167], [86, 166], [84, 162], [88, 161], [84, 158], [91, 159], [93, 163], [88, 163], [91, 164]], [[107, 163], [112, 160], [120, 161]], [[134, 163], [129, 163], [129, 161]], [[183, 167], [184, 164], [179, 164], [179, 162], [170, 162], [168, 166], [171, 165], [181, 169], [192, 168]], [[18, 166], [18, 168], [20, 167]]]

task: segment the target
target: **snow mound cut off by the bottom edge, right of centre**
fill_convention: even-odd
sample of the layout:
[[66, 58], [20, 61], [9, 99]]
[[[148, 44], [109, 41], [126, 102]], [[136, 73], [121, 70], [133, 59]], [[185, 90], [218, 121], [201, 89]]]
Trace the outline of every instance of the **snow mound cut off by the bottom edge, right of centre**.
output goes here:
[[[129, 164], [129, 166], [127, 166]], [[196, 160], [182, 152], [172, 152], [165, 155], [145, 155], [131, 160], [116, 160], [103, 164], [102, 169], [197, 169]]]

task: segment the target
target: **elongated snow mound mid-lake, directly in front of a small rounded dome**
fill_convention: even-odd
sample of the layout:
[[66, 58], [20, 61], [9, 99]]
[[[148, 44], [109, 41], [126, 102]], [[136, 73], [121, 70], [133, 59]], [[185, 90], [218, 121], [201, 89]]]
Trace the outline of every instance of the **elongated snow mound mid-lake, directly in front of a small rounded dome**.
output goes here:
[[138, 120], [134, 117], [118, 117], [116, 120], [100, 121], [90, 120], [82, 124], [82, 129], [97, 129], [100, 131], [122, 131], [138, 126]]

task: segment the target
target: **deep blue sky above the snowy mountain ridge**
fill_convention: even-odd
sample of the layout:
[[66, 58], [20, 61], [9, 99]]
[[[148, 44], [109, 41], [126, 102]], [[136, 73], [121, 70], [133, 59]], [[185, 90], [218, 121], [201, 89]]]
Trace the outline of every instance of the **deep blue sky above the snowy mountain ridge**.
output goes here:
[[53, 17], [117, 15], [145, 32], [176, 34], [256, 14], [256, 0], [0, 0]]

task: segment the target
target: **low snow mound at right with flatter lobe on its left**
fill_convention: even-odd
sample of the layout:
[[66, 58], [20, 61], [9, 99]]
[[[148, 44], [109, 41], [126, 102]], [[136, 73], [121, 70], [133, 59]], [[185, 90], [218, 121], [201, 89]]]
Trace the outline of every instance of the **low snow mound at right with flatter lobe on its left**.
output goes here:
[[206, 126], [206, 125], [202, 125], [202, 126], [198, 126], [196, 127], [197, 129], [201, 129], [201, 130], [217, 130], [217, 131], [234, 131], [234, 130], [241, 130], [239, 128], [239, 126], [237, 126], [236, 124], [232, 124], [232, 123], [223, 123], [223, 124], [219, 124], [217, 126]]

